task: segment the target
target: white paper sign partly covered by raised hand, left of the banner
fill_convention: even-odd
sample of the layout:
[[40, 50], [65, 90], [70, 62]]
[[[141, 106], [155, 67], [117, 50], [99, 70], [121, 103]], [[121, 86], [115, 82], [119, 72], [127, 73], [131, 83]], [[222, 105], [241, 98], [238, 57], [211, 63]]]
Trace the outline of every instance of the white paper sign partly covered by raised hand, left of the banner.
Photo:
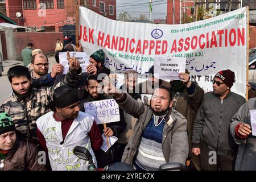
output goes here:
[[[89, 56], [85, 52], [69, 52], [70, 57], [74, 56], [80, 62], [80, 67], [82, 68], [82, 73], [86, 72], [86, 67], [89, 64]], [[67, 52], [59, 52], [60, 64], [64, 66], [63, 74], [68, 72], [68, 58]]]

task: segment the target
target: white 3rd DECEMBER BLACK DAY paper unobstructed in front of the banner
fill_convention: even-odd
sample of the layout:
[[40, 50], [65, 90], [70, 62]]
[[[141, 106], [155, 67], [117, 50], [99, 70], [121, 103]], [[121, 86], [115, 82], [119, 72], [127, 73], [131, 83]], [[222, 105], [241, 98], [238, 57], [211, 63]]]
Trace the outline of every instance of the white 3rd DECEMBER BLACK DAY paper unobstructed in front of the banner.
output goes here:
[[186, 59], [184, 57], [155, 56], [155, 78], [162, 80], [180, 80], [179, 73], [184, 73]]

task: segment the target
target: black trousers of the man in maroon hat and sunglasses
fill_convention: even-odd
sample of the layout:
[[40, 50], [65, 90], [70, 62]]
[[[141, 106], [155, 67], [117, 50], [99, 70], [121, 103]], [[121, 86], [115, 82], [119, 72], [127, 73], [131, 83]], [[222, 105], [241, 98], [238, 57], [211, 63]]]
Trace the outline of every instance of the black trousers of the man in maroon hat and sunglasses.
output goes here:
[[[234, 170], [234, 162], [236, 152], [228, 152], [226, 155], [214, 156], [208, 148], [204, 140], [200, 142], [200, 166], [203, 171], [232, 171]], [[213, 158], [216, 158], [215, 160]], [[216, 162], [213, 164], [213, 162]]]

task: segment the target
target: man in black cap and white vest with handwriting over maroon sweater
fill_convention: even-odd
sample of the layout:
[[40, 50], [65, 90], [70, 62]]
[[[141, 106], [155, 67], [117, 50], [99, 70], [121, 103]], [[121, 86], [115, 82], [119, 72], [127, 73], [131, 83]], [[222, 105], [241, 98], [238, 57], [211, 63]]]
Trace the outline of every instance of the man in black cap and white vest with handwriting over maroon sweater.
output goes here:
[[48, 151], [53, 171], [88, 170], [88, 164], [73, 154], [73, 148], [89, 150], [97, 165], [94, 152], [100, 150], [102, 137], [92, 115], [80, 112], [77, 90], [60, 86], [53, 94], [53, 111], [38, 118], [39, 143]]

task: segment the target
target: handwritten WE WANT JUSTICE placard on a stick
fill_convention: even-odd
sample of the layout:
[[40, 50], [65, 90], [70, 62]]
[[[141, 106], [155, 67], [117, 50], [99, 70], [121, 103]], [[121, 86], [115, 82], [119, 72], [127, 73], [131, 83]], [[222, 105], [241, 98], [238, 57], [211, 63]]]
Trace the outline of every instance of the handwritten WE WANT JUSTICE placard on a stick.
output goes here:
[[84, 109], [93, 115], [97, 125], [120, 121], [119, 106], [114, 99], [85, 102]]

